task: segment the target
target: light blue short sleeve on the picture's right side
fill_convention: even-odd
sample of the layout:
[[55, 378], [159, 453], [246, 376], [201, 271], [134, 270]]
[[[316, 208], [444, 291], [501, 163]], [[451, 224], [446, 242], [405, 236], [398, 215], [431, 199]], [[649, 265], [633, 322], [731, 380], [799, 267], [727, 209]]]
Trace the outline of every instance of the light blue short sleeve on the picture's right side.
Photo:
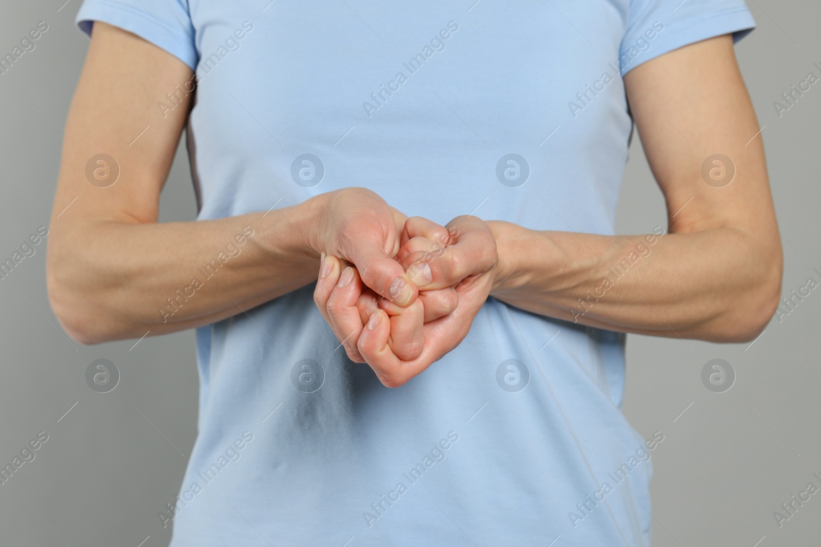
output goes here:
[[722, 34], [732, 34], [737, 42], [754, 27], [744, 0], [631, 0], [619, 51], [621, 73]]

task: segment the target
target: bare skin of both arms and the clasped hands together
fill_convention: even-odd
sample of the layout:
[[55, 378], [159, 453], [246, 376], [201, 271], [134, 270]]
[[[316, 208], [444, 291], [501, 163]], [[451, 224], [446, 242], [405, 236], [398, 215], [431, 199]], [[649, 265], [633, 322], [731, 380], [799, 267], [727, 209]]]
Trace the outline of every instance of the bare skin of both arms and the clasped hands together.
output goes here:
[[[722, 75], [720, 93], [715, 74]], [[777, 307], [781, 244], [761, 139], [750, 140], [759, 127], [728, 36], [626, 75], [631, 112], [667, 200], [669, 233], [586, 306], [579, 299], [644, 235], [536, 231], [476, 217], [456, 217], [446, 229], [408, 219], [357, 188], [269, 212], [158, 224], [190, 96], [165, 117], [156, 104], [191, 75], [133, 34], [94, 25], [67, 120], [47, 258], [53, 310], [82, 343], [232, 317], [317, 280], [318, 262], [325, 272], [314, 294], [320, 312], [348, 356], [368, 362], [392, 387], [455, 348], [488, 295], [609, 330], [722, 342], [754, 339]], [[100, 151], [121, 168], [108, 188], [85, 178], [86, 162]], [[704, 158], [716, 152], [736, 166], [735, 180], [721, 189], [700, 175]], [[195, 296], [178, 299], [172, 315], [159, 312], [246, 227], [253, 235], [241, 253]], [[431, 253], [440, 241], [444, 252]], [[338, 286], [342, 278], [347, 283]]]

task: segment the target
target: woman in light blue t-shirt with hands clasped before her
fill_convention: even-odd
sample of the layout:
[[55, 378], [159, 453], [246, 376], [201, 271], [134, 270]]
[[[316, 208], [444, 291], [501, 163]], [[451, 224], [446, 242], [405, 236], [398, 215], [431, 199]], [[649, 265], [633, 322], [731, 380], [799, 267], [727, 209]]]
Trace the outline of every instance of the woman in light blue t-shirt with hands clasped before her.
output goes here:
[[[49, 294], [86, 344], [197, 328], [172, 545], [649, 545], [623, 333], [780, 292], [744, 3], [266, 3], [77, 16]], [[615, 236], [633, 122], [669, 226]]]

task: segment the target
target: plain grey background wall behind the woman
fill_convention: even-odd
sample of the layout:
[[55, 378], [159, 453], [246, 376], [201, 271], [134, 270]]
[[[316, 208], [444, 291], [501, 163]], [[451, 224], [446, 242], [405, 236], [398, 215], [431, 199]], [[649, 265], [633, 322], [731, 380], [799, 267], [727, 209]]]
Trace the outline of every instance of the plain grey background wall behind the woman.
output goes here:
[[[48, 225], [71, 95], [88, 39], [73, 20], [79, 0], [4, 2], [0, 52], [38, 21], [48, 31], [0, 75], [0, 258]], [[736, 47], [750, 89], [782, 232], [782, 294], [821, 270], [818, 204], [821, 84], [779, 118], [773, 101], [819, 75], [818, 2], [751, 0], [759, 24]], [[714, 75], [717, 84], [721, 75]], [[195, 217], [184, 147], [163, 191], [160, 221]], [[764, 222], [764, 218], [762, 217]], [[663, 198], [634, 139], [617, 217], [620, 234], [666, 226]], [[48, 242], [48, 239], [47, 239]], [[33, 462], [0, 485], [2, 545], [167, 545], [158, 511], [174, 499], [196, 435], [194, 334], [85, 347], [69, 340], [45, 291], [45, 245], [0, 280], [0, 463], [48, 433]], [[821, 495], [782, 528], [773, 512], [821, 475], [821, 289], [753, 344], [630, 335], [624, 411], [653, 452], [654, 545], [819, 545]], [[97, 358], [117, 364], [120, 384], [85, 384]], [[736, 371], [731, 390], [701, 382], [704, 363]], [[69, 411], [67, 413], [67, 411]], [[684, 413], [682, 413], [684, 411]], [[58, 421], [59, 420], [59, 421]], [[756, 542], [759, 542], [756, 544]], [[561, 544], [558, 544], [561, 545]]]

